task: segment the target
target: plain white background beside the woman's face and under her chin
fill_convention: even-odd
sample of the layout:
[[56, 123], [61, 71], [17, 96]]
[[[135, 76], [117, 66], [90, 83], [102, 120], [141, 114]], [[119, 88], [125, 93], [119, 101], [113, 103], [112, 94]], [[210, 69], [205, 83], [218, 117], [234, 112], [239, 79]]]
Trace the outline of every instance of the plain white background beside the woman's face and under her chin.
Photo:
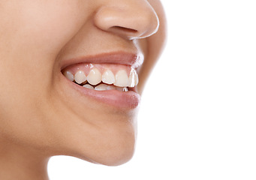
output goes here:
[[163, 0], [168, 43], [143, 94], [134, 158], [53, 157], [51, 180], [256, 179], [256, 5]]

